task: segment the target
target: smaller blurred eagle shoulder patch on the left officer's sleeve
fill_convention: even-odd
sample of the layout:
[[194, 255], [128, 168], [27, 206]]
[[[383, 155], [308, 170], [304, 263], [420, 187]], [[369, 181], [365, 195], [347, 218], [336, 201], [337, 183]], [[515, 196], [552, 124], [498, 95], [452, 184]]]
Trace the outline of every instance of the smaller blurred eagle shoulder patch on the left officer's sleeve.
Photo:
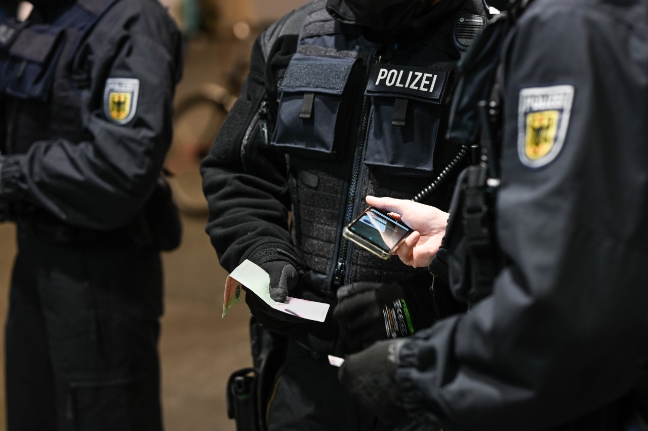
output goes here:
[[117, 124], [126, 124], [135, 117], [139, 95], [139, 79], [109, 78], [104, 90], [104, 113]]

